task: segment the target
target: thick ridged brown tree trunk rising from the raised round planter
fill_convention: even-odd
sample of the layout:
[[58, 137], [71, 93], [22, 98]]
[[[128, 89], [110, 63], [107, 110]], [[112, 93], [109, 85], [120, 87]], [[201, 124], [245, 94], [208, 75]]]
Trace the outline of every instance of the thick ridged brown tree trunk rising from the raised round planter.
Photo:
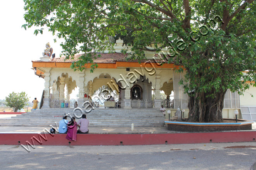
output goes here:
[[[213, 90], [212, 90], [213, 92]], [[222, 109], [226, 91], [218, 92], [216, 97], [206, 97], [211, 93], [195, 93], [189, 97], [189, 122], [222, 122]]]

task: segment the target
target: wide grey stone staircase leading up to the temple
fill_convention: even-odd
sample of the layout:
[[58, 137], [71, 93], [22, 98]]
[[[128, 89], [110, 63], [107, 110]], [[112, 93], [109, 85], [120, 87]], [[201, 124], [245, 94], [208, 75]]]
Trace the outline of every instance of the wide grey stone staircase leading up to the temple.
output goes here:
[[[44, 108], [32, 110], [12, 117], [11, 119], [0, 119], [0, 126], [31, 126], [31, 127], [49, 127], [59, 125], [64, 114], [70, 113], [73, 117], [71, 108]], [[80, 116], [79, 110], [76, 115]], [[131, 127], [133, 123], [138, 126], [164, 126], [164, 116], [159, 109], [94, 109], [86, 114], [90, 121], [89, 127]], [[70, 121], [70, 118], [67, 118]], [[79, 119], [76, 119], [78, 122]]]

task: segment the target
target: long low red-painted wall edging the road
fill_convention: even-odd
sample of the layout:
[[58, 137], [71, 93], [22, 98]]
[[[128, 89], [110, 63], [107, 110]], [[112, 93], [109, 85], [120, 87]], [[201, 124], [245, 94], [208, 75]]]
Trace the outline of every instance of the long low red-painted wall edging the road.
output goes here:
[[[0, 145], [25, 145], [26, 141], [33, 144], [31, 138], [39, 139], [38, 134], [1, 133]], [[44, 134], [42, 134], [44, 137]], [[191, 144], [191, 143], [227, 143], [255, 141], [256, 131], [213, 132], [213, 133], [164, 133], [164, 134], [77, 134], [77, 141], [69, 141], [66, 134], [46, 134], [42, 145], [159, 145], [159, 144]], [[20, 141], [20, 143], [18, 143]], [[40, 145], [33, 139], [35, 145]]]

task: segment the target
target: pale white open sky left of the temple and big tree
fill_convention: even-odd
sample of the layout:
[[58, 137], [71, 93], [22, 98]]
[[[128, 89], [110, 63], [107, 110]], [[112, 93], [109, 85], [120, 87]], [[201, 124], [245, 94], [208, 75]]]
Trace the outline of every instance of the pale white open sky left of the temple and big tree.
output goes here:
[[21, 28], [26, 24], [23, 15], [22, 0], [2, 1], [0, 5], [0, 99], [5, 99], [9, 93], [26, 92], [29, 101], [35, 97], [41, 100], [44, 89], [44, 79], [35, 75], [32, 60], [40, 60], [45, 44], [50, 42], [55, 57], [59, 57], [62, 48], [61, 40], [54, 43], [54, 36], [47, 28], [43, 34], [34, 35], [34, 28]]

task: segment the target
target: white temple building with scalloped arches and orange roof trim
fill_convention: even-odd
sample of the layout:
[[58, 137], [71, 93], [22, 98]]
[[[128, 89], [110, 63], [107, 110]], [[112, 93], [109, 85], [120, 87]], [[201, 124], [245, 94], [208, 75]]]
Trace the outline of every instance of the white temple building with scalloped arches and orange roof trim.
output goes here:
[[[77, 61], [82, 54], [75, 55], [74, 59], [51, 58], [49, 54], [38, 61], [32, 61], [35, 74], [45, 80], [42, 108], [82, 107], [85, 101], [91, 100], [95, 107], [101, 105], [117, 109], [159, 109], [164, 105], [166, 110], [171, 110], [171, 116], [174, 116], [179, 107], [185, 110], [184, 117], [188, 117], [188, 95], [179, 84], [185, 71], [177, 73], [175, 68], [179, 66], [174, 63], [159, 65], [155, 62], [154, 52], [145, 52], [146, 59], [141, 63], [137, 60], [126, 60], [126, 55], [121, 53], [123, 48], [127, 47], [119, 39], [114, 46], [115, 53], [99, 53], [101, 57], [93, 60], [98, 68], [92, 73], [91, 64], [85, 65], [86, 69], [83, 71], [70, 68], [71, 63]], [[95, 97], [95, 92], [102, 87], [109, 87], [106, 93], [114, 91], [113, 104], [102, 99], [102, 96]], [[70, 99], [75, 88], [79, 88], [77, 100]], [[161, 93], [167, 97], [163, 99]], [[256, 96], [256, 88], [250, 88], [249, 93]], [[256, 99], [247, 93], [239, 96], [238, 93], [227, 91], [224, 100], [223, 118], [234, 118], [234, 109], [237, 109], [240, 118], [256, 119]], [[166, 118], [167, 116], [166, 113]]]

